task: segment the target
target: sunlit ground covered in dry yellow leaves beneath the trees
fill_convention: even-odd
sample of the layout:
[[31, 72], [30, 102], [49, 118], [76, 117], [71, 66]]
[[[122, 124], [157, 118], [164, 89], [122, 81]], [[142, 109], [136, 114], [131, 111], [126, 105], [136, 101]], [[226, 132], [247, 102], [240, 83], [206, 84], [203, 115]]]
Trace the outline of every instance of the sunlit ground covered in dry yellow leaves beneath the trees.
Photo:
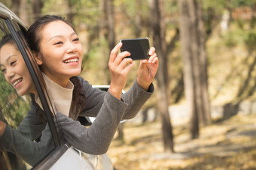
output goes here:
[[117, 170], [256, 169], [256, 115], [236, 115], [203, 127], [190, 140], [185, 125], [174, 127], [175, 154], [164, 154], [159, 121], [126, 123], [124, 142], [114, 139], [108, 155]]

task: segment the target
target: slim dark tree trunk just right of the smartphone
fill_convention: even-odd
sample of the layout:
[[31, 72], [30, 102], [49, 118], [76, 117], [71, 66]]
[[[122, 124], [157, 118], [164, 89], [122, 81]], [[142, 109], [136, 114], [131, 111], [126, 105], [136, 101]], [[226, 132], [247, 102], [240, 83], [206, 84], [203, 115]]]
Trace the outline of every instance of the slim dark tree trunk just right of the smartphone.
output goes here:
[[[165, 26], [163, 24], [163, 1], [152, 0], [151, 2], [151, 28], [153, 28], [154, 47], [159, 58], [157, 71], [157, 100], [158, 112], [161, 115], [163, 131], [163, 148], [165, 152], [174, 152], [172, 125], [169, 118], [168, 97], [168, 64], [166, 56]], [[154, 12], [152, 12], [154, 11]]]

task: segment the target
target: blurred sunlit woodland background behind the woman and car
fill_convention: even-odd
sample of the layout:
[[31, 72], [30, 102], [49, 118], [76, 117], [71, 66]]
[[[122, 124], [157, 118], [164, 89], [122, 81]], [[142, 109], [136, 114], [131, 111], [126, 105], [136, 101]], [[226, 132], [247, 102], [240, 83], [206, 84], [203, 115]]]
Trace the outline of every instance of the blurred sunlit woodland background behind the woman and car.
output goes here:
[[108, 151], [116, 169], [256, 169], [256, 0], [2, 3], [28, 27], [46, 14], [72, 22], [93, 85], [109, 84], [120, 39], [148, 37], [157, 49], [155, 93]]

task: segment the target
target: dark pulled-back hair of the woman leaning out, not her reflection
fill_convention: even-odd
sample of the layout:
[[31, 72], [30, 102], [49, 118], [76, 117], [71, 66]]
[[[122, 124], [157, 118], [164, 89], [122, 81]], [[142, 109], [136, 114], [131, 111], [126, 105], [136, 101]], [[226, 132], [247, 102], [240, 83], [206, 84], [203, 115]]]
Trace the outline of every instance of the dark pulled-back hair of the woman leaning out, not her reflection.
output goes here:
[[[73, 28], [75, 31], [75, 28], [73, 25], [66, 21], [61, 16], [55, 16], [55, 15], [46, 15], [39, 18], [37, 21], [35, 21], [27, 31], [26, 39], [29, 44], [29, 48], [34, 52], [40, 52], [40, 42], [41, 42], [41, 31], [44, 28], [45, 25], [49, 24], [50, 22], [54, 21], [62, 21], [65, 22], [67, 25]], [[78, 77], [72, 77], [70, 78], [72, 83], [74, 84], [74, 90], [73, 90], [73, 97], [72, 97], [72, 110], [75, 111], [75, 107], [82, 109], [82, 106], [84, 105], [85, 101], [85, 95], [81, 91], [81, 82], [79, 81]], [[80, 112], [81, 110], [78, 110]]]

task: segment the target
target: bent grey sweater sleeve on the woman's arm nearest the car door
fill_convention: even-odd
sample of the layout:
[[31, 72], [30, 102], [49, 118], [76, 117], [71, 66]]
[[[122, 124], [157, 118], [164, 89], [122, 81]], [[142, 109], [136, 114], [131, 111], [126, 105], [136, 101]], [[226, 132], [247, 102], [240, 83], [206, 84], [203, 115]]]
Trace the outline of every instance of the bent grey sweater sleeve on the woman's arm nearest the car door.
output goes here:
[[102, 107], [90, 127], [85, 128], [78, 121], [73, 121], [59, 112], [56, 118], [62, 127], [66, 142], [70, 145], [87, 154], [105, 154], [126, 106], [126, 103], [108, 92], [105, 94]]

